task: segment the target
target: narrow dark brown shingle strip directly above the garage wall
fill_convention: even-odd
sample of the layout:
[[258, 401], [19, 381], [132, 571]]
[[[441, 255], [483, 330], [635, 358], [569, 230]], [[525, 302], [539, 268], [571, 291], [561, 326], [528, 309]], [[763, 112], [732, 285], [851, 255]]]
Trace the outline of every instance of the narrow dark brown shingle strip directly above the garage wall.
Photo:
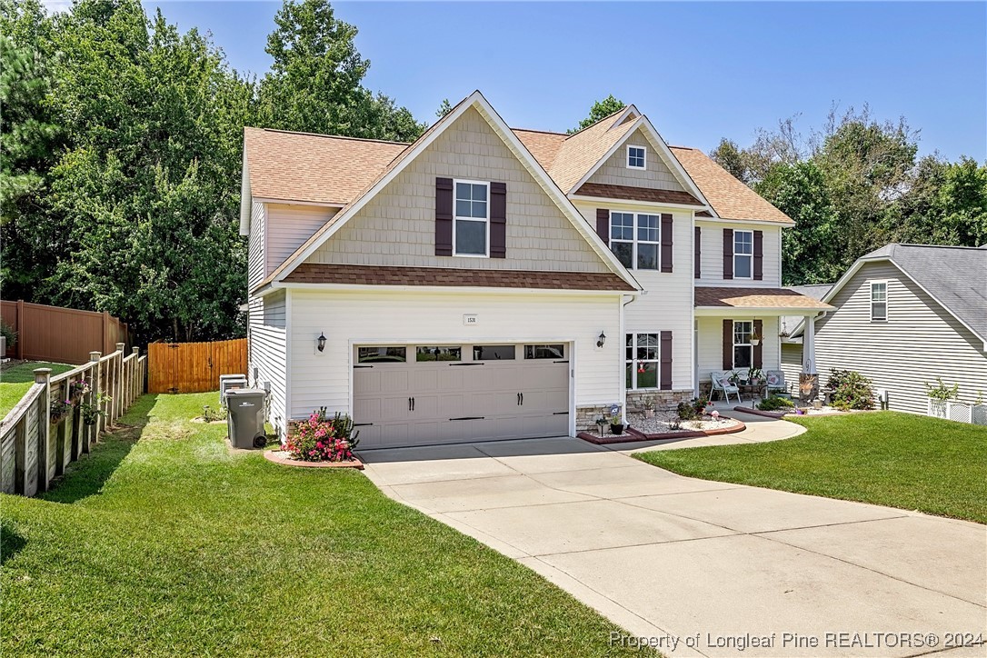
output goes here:
[[397, 267], [303, 262], [285, 278], [293, 283], [349, 285], [462, 286], [541, 288], [549, 290], [614, 290], [634, 288], [610, 272], [529, 271], [445, 267]]

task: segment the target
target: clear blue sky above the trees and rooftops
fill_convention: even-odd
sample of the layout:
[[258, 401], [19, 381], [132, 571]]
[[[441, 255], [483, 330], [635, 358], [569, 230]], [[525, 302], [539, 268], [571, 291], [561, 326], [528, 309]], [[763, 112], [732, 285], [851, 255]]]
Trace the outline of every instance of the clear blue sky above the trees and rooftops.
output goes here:
[[[145, 2], [263, 74], [279, 2]], [[508, 123], [565, 130], [614, 94], [672, 144], [748, 144], [833, 103], [904, 115], [922, 154], [987, 160], [987, 3], [334, 3], [365, 84], [429, 123], [480, 89]]]

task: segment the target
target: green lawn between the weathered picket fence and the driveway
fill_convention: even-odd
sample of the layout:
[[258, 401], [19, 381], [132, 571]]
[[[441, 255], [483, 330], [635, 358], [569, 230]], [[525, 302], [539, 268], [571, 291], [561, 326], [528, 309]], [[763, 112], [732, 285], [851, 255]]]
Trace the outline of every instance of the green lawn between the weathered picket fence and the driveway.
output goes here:
[[622, 653], [614, 624], [364, 475], [231, 455], [187, 421], [215, 395], [145, 396], [43, 499], [0, 496], [0, 654]]

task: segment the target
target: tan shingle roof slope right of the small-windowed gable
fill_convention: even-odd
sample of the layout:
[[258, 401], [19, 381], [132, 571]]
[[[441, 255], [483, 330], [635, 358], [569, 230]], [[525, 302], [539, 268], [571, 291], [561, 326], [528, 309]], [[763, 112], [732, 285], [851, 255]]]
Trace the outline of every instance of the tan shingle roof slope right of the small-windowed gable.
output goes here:
[[669, 148], [721, 218], [792, 223], [791, 217], [737, 181], [699, 149], [684, 146]]

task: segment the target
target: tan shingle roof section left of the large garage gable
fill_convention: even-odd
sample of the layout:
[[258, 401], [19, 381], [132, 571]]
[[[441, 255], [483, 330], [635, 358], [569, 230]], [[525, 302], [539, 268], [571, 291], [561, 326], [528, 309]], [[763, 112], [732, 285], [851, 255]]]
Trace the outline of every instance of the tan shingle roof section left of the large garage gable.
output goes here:
[[343, 205], [408, 144], [244, 128], [251, 194]]

